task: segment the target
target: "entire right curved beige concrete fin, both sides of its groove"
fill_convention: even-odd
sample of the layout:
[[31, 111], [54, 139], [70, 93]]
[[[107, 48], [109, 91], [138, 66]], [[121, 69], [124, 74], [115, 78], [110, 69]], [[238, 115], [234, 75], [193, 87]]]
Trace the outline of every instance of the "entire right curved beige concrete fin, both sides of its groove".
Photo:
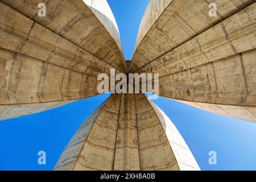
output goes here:
[[[208, 15], [212, 2], [217, 17]], [[152, 0], [131, 72], [159, 73], [160, 96], [255, 122], [254, 2]], [[213, 105], [220, 105], [222, 112], [210, 109]]]

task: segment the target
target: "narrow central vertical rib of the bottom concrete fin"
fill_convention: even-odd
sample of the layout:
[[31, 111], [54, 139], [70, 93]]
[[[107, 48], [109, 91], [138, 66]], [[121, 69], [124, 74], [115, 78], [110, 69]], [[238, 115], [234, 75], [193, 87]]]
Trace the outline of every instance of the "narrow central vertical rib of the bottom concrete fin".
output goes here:
[[140, 170], [134, 94], [122, 94], [114, 170]]

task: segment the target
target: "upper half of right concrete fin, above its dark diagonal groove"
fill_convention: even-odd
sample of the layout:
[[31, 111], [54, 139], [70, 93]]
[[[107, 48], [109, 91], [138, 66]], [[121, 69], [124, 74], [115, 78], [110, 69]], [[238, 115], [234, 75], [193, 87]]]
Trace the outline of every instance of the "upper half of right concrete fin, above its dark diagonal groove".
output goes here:
[[[151, 0], [139, 27], [131, 71], [137, 71], [254, 2]], [[210, 3], [217, 5], [216, 17], [208, 15]]]

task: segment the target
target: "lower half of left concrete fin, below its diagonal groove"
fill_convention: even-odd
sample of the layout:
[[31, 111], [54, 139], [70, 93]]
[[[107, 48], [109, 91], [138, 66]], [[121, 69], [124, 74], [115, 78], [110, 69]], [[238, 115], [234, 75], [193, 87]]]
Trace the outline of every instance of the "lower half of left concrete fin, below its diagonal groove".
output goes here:
[[[35, 1], [26, 3], [31, 5], [30, 8], [36, 5], [32, 12], [37, 13]], [[3, 84], [0, 105], [11, 109], [12, 105], [18, 104], [19, 110], [24, 106], [18, 115], [26, 115], [32, 114], [31, 110], [38, 104], [41, 109], [48, 110], [51, 102], [65, 103], [97, 95], [98, 74], [110, 74], [114, 67], [57, 35], [49, 27], [29, 19], [32, 15], [26, 9], [20, 9], [23, 6], [26, 4], [20, 1], [0, 3], [3, 15], [0, 18], [0, 83]], [[34, 104], [34, 108], [26, 110], [25, 104]], [[1, 119], [8, 118], [6, 113], [2, 114]], [[17, 115], [9, 114], [10, 118]]]

